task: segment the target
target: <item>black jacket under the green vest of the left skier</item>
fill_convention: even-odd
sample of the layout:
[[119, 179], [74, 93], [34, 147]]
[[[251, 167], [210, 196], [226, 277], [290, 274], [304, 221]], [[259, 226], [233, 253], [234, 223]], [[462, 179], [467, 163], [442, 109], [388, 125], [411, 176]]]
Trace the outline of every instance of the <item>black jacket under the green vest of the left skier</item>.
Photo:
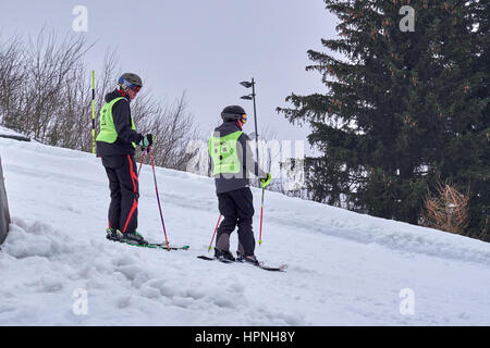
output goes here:
[[[106, 95], [106, 102], [110, 102], [115, 98], [124, 97], [121, 91], [114, 89]], [[118, 139], [109, 144], [105, 141], [96, 141], [97, 157], [103, 156], [134, 156], [134, 147], [132, 142], [138, 144], [143, 136], [132, 129], [130, 100], [127, 98], [117, 101], [112, 105], [112, 120], [114, 122], [115, 130], [118, 132]]]

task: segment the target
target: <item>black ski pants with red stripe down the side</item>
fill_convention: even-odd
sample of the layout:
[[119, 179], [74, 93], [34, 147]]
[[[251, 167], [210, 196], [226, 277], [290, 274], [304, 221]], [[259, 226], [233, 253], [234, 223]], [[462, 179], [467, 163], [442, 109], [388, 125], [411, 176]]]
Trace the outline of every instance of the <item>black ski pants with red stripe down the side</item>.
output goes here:
[[139, 185], [136, 162], [131, 154], [105, 156], [102, 164], [109, 178], [111, 203], [109, 227], [135, 232], [138, 224]]

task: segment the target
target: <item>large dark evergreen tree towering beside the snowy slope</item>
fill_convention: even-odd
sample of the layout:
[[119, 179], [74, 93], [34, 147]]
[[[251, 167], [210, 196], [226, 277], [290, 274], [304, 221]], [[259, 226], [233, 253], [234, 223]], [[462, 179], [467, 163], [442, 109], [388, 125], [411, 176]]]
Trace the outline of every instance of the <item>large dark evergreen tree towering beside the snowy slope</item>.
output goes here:
[[[330, 53], [308, 51], [315, 64], [307, 70], [322, 74], [327, 92], [293, 94], [286, 98], [293, 108], [278, 108], [293, 123], [308, 122], [308, 140], [322, 152], [306, 160], [314, 199], [415, 224], [437, 178], [481, 186], [488, 90], [476, 69], [485, 37], [474, 30], [477, 7], [324, 2], [340, 20], [341, 37], [322, 40]], [[415, 10], [414, 32], [399, 25], [407, 4]], [[471, 223], [481, 217], [475, 213]]]

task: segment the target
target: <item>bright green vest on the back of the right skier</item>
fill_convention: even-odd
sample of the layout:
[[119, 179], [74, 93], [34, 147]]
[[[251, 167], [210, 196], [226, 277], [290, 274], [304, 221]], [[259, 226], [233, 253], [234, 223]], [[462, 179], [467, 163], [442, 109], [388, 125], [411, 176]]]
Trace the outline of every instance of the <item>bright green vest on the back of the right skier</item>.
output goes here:
[[242, 132], [237, 130], [224, 137], [211, 136], [209, 138], [208, 150], [215, 165], [212, 175], [241, 172], [242, 162], [236, 150]]

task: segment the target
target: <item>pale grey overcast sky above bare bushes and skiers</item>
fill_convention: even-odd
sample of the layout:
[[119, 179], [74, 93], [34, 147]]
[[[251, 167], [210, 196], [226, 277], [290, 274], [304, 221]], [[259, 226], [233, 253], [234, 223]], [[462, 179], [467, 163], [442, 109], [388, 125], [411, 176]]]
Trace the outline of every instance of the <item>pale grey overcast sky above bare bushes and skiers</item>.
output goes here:
[[278, 139], [306, 139], [308, 129], [291, 125], [275, 108], [286, 107], [284, 99], [293, 91], [326, 91], [321, 76], [305, 71], [310, 64], [306, 51], [323, 50], [320, 39], [336, 36], [335, 18], [322, 0], [0, 3], [3, 38], [36, 35], [42, 26], [64, 35], [73, 30], [73, 9], [86, 7], [88, 30], [76, 35], [97, 41], [85, 60], [87, 67], [97, 73], [105, 52], [115, 49], [123, 72], [139, 74], [145, 90], [168, 102], [186, 91], [188, 109], [204, 133], [229, 104], [245, 108], [249, 122], [244, 130], [254, 130], [252, 101], [240, 99], [247, 90], [238, 82], [255, 77], [259, 133], [268, 126]]

